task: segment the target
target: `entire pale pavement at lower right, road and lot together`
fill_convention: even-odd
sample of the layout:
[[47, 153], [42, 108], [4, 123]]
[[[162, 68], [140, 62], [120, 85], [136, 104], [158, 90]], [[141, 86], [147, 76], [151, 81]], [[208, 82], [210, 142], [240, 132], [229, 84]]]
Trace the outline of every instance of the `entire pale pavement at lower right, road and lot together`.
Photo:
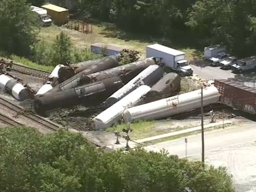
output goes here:
[[[205, 133], [205, 163], [225, 166], [232, 174], [236, 192], [256, 191], [256, 123]], [[201, 135], [187, 137], [190, 159], [201, 159]], [[148, 149], [165, 148], [170, 154], [185, 156], [184, 138], [160, 142]]]

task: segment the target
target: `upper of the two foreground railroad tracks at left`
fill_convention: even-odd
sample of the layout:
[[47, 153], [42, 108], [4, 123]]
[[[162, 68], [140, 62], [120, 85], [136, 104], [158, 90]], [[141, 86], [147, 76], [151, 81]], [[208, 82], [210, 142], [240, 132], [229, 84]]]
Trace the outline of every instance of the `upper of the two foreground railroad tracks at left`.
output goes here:
[[4, 98], [0, 97], [0, 105], [9, 108], [12, 111], [15, 111], [16, 113], [18, 113], [19, 115], [22, 115], [38, 124], [40, 124], [42, 127], [46, 128], [46, 129], [50, 129], [50, 130], [58, 130], [59, 126], [56, 125], [55, 123], [48, 121], [47, 119], [33, 114], [31, 112], [24, 112], [23, 109], [20, 106], [17, 106], [7, 100], [5, 100]]

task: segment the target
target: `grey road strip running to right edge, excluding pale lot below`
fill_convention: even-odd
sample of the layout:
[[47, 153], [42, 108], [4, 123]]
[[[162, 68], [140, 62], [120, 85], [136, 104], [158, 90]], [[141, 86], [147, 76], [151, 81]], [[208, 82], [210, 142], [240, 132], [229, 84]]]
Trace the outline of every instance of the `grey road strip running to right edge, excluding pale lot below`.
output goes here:
[[[235, 128], [220, 129], [210, 132], [205, 132], [205, 151], [210, 151], [216, 148], [249, 142], [256, 140], [256, 123], [250, 123]], [[179, 157], [185, 156], [184, 138], [159, 142], [148, 146], [156, 149], [167, 149], [170, 154], [176, 154]], [[195, 155], [201, 152], [201, 134], [191, 135], [187, 137], [187, 155]]]

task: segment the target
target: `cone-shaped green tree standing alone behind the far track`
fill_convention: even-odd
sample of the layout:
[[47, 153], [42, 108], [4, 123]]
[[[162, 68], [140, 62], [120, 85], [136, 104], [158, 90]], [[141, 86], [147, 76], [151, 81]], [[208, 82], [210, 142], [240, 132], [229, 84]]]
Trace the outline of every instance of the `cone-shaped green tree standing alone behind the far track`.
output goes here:
[[70, 61], [71, 58], [71, 40], [64, 32], [60, 32], [52, 45], [51, 60], [54, 65], [65, 64]]

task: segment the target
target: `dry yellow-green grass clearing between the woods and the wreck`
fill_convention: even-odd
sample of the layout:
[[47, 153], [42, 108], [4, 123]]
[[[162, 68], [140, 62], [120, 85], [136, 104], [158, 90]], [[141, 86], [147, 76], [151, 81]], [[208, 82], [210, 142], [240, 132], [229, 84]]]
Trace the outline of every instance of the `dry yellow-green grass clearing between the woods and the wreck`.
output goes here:
[[144, 58], [145, 46], [158, 42], [184, 51], [186, 53], [187, 60], [198, 59], [201, 56], [201, 53], [196, 49], [189, 47], [177, 47], [171, 43], [170, 40], [128, 34], [116, 29], [114, 25], [109, 23], [92, 24], [92, 33], [88, 34], [52, 25], [49, 27], [42, 27], [39, 32], [39, 37], [40, 39], [44, 39], [47, 42], [52, 42], [60, 31], [64, 31], [67, 35], [69, 35], [72, 43], [77, 48], [90, 48], [90, 45], [93, 43], [103, 42], [120, 46], [122, 48], [140, 51], [141, 58]]

